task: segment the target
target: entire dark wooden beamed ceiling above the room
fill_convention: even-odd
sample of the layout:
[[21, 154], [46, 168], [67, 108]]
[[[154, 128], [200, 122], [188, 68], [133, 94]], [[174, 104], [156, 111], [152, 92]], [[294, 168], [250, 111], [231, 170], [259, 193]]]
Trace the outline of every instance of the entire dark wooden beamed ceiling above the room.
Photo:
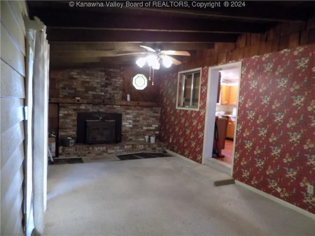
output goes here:
[[[47, 26], [51, 67], [130, 65], [134, 55], [117, 55], [145, 52], [139, 45], [193, 54], [214, 48], [216, 42], [235, 43], [243, 33], [266, 32], [281, 22], [306, 23], [315, 13], [315, 1], [239, 1], [245, 2], [239, 7], [224, 7], [224, 1], [151, 1], [151, 7], [88, 2], [90, 7], [86, 1], [27, 1], [30, 18], [37, 16]], [[153, 7], [152, 2], [161, 5]], [[210, 2], [216, 7], [195, 6]], [[180, 3], [187, 5], [174, 6]]]

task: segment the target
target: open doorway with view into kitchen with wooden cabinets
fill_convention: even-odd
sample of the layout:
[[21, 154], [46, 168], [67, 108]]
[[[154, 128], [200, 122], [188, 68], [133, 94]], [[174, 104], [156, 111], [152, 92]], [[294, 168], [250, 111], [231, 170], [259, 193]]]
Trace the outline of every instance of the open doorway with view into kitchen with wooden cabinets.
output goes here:
[[[209, 67], [208, 72], [202, 164], [208, 165], [230, 176], [232, 176], [233, 173], [241, 69], [242, 62], [239, 61]], [[231, 72], [233, 72], [233, 76], [231, 76]], [[235, 89], [237, 90], [235, 91]], [[226, 95], [227, 93], [228, 95]], [[230, 99], [230, 97], [235, 97], [235, 99]], [[227, 141], [224, 143], [224, 148], [226, 149], [222, 149], [225, 160], [212, 157], [216, 117], [226, 120], [226, 126], [222, 129], [225, 131], [221, 131], [224, 132], [223, 142], [225, 142], [225, 140]]]

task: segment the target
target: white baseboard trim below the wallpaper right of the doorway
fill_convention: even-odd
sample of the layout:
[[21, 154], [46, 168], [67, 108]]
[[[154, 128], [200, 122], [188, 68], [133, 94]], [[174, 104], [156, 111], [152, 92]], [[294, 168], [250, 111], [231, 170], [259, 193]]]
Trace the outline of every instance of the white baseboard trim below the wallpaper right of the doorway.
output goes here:
[[311, 213], [311, 212], [309, 212], [307, 210], [304, 210], [304, 209], [302, 209], [300, 207], [297, 207], [297, 206], [295, 206], [293, 204], [285, 202], [284, 200], [281, 200], [281, 199], [279, 199], [277, 197], [274, 197], [274, 196], [272, 196], [272, 195], [270, 195], [268, 193], [265, 193], [265, 192], [263, 192], [263, 191], [261, 191], [259, 189], [256, 189], [256, 188], [254, 188], [254, 187], [252, 187], [252, 186], [250, 186], [250, 185], [248, 185], [246, 183], [242, 183], [239, 180], [235, 180], [235, 184], [240, 185], [240, 186], [242, 186], [244, 188], [247, 188], [247, 189], [251, 190], [252, 192], [259, 194], [260, 196], [263, 196], [263, 197], [265, 197], [265, 198], [267, 198], [267, 199], [269, 199], [271, 201], [274, 201], [274, 202], [276, 202], [276, 203], [278, 203], [278, 204], [280, 204], [280, 205], [282, 205], [284, 207], [288, 207], [288, 208], [290, 208], [290, 209], [292, 209], [294, 211], [299, 212], [302, 215], [305, 215], [305, 216], [310, 217], [311, 219], [315, 220], [315, 214], [313, 214], [313, 213]]

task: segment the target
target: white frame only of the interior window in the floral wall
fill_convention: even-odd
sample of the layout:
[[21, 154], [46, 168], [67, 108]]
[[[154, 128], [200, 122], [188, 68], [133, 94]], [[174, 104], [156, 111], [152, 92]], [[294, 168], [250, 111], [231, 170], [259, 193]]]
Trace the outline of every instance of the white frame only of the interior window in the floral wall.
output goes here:
[[[184, 80], [184, 76], [192, 75], [192, 78], [194, 78], [194, 74], [199, 73], [199, 89], [198, 89], [198, 105], [197, 106], [183, 106], [179, 103], [183, 104], [183, 97], [184, 97], [184, 90], [185, 86], [181, 86], [183, 83], [181, 83]], [[178, 72], [178, 78], [177, 78], [177, 93], [176, 93], [176, 109], [180, 110], [190, 110], [190, 111], [199, 111], [199, 105], [200, 105], [200, 91], [201, 91], [201, 75], [202, 75], [202, 67], [179, 71]], [[191, 91], [193, 91], [193, 79], [191, 80]], [[181, 86], [181, 88], [180, 88]], [[181, 97], [179, 97], [181, 95]], [[193, 92], [190, 93], [190, 99], [193, 97]], [[179, 101], [181, 99], [181, 101]]]

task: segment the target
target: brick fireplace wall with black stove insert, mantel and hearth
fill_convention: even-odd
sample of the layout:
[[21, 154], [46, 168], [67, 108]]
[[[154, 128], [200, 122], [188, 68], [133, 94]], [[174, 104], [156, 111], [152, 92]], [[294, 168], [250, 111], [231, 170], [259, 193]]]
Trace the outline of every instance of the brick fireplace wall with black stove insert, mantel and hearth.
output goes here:
[[[55, 130], [59, 139], [76, 139], [74, 147], [59, 146], [59, 157], [164, 150], [162, 143], [145, 143], [144, 138], [145, 135], [155, 135], [158, 141], [160, 107], [158, 102], [152, 102], [152, 97], [158, 99], [158, 94], [152, 90], [130, 90], [134, 89], [130, 85], [134, 72], [128, 70], [126, 75], [124, 71], [126, 69], [103, 68], [51, 71], [50, 105], [56, 105], [58, 112], [49, 116], [50, 120], [58, 119], [58, 122], [50, 123], [58, 126]], [[150, 89], [158, 88], [157, 84]], [[125, 93], [130, 93], [131, 98], [137, 96], [140, 101], [127, 102]], [[91, 116], [81, 118], [82, 114]], [[120, 114], [120, 120], [117, 122], [115, 117], [105, 114]], [[78, 122], [81, 124], [79, 128]], [[117, 123], [120, 124], [118, 129]], [[87, 139], [87, 127], [94, 138]], [[111, 137], [104, 138], [104, 135]]]

